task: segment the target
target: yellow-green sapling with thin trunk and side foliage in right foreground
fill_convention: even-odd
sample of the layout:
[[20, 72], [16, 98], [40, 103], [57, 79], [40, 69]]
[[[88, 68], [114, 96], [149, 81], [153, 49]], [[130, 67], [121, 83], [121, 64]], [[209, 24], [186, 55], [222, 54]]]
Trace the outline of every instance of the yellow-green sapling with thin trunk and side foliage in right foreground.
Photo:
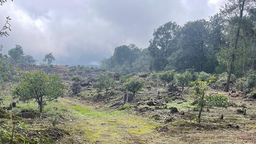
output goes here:
[[201, 81], [201, 79], [197, 79], [194, 82], [191, 82], [189, 85], [192, 86], [193, 91], [190, 97], [192, 97], [194, 100], [196, 100], [196, 109], [199, 111], [198, 114], [198, 123], [201, 121], [201, 113], [204, 110], [204, 108], [207, 108], [207, 112], [210, 112], [210, 108], [213, 107], [222, 107], [227, 108], [228, 103], [228, 97], [224, 95], [213, 95], [208, 94], [205, 95], [207, 88], [209, 84], [215, 79], [214, 76], [210, 77], [210, 80], [208, 81]]

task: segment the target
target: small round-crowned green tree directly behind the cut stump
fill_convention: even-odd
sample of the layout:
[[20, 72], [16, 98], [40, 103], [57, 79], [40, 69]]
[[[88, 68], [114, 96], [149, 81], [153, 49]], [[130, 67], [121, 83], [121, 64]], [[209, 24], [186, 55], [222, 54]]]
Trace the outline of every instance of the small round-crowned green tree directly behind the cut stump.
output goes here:
[[130, 77], [124, 84], [123, 87], [126, 91], [132, 92], [135, 96], [135, 92], [141, 90], [144, 87], [143, 79], [138, 76]]

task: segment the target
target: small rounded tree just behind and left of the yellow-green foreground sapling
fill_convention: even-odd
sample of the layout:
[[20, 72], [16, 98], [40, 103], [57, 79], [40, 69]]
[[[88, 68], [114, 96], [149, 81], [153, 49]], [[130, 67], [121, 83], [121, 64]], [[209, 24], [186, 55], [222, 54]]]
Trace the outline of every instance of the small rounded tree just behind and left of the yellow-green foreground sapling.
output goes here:
[[191, 79], [192, 79], [192, 75], [189, 71], [186, 71], [182, 74], [176, 74], [174, 76], [175, 79], [175, 84], [177, 84], [178, 86], [182, 87], [182, 91], [184, 90], [184, 86], [187, 86]]

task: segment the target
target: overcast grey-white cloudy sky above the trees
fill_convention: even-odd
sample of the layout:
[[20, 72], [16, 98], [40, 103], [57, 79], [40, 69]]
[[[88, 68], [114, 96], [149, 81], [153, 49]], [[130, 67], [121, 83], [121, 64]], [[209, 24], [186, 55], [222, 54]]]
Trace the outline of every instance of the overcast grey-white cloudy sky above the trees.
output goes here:
[[42, 62], [52, 52], [53, 64], [98, 64], [119, 45], [146, 48], [154, 29], [168, 21], [179, 25], [206, 19], [228, 0], [7, 0], [0, 6], [0, 26], [10, 16], [3, 53], [15, 44]]

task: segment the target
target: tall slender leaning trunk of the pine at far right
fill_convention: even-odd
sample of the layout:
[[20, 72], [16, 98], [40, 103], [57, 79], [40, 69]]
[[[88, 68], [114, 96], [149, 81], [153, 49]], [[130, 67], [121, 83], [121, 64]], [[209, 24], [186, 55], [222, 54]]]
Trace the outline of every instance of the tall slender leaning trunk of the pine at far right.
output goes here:
[[[244, 11], [244, 1], [243, 0], [243, 3], [241, 5], [241, 10], [240, 10], [240, 16], [239, 16], [239, 19], [241, 20], [242, 17], [243, 17], [243, 11]], [[239, 33], [240, 33], [240, 27], [238, 26], [238, 29], [236, 31], [236, 39], [235, 39], [235, 44], [234, 44], [234, 50], [236, 50], [236, 47], [237, 47], [237, 42], [238, 42], [238, 36], [239, 36]], [[224, 92], [228, 92], [229, 90], [229, 82], [230, 82], [230, 76], [231, 76], [231, 71], [233, 69], [233, 62], [235, 60], [235, 54], [233, 52], [232, 54], [232, 60], [231, 60], [231, 63], [229, 65], [229, 69], [228, 69], [228, 79], [227, 79], [227, 83], [226, 83], [226, 87], [225, 87], [225, 90]]]

